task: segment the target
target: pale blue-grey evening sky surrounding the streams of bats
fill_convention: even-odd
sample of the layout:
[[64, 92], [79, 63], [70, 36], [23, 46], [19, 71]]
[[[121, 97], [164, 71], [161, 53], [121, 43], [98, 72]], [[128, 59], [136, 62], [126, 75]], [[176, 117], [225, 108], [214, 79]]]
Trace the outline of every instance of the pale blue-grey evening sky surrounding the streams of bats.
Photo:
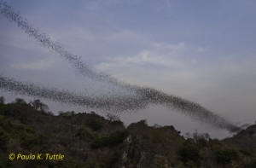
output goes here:
[[[200, 103], [236, 123], [256, 120], [256, 2], [174, 0], [9, 0], [40, 32], [97, 72], [127, 84], [149, 86]], [[0, 14], [0, 73], [45, 86], [92, 95], [115, 88], [81, 78], [60, 56], [44, 49], [15, 22]], [[6, 101], [23, 97], [1, 91]], [[125, 94], [125, 93], [124, 93]], [[53, 113], [95, 109], [43, 100]], [[173, 109], [150, 106], [118, 114], [129, 125], [174, 125], [177, 130], [230, 134]]]

